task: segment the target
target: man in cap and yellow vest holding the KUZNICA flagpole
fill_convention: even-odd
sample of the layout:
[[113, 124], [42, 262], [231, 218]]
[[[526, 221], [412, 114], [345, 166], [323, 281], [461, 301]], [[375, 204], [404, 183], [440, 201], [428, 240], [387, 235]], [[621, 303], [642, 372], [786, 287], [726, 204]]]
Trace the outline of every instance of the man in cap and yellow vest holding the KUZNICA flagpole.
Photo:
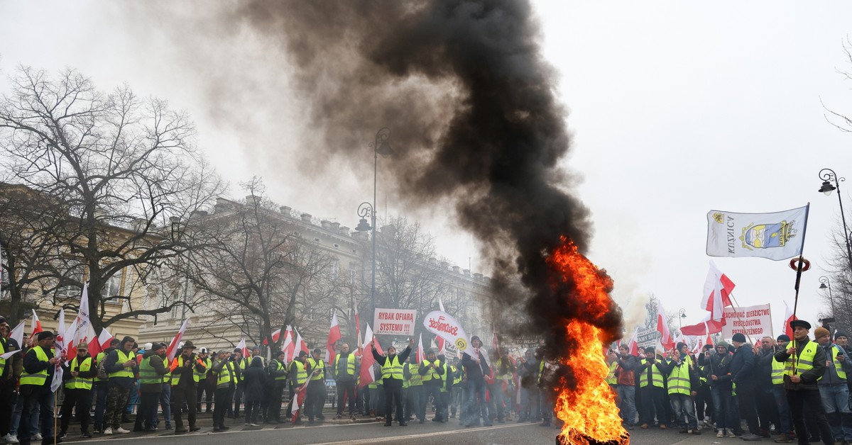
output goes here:
[[786, 351], [776, 352], [775, 360], [785, 363], [784, 387], [798, 442], [802, 445], [808, 443], [808, 431], [804, 425], [804, 406], [807, 405], [816, 419], [822, 442], [830, 445], [834, 443], [832, 428], [828, 425], [817, 386], [817, 380], [826, 371], [826, 353], [808, 338], [809, 322], [793, 320], [790, 327], [795, 341]]

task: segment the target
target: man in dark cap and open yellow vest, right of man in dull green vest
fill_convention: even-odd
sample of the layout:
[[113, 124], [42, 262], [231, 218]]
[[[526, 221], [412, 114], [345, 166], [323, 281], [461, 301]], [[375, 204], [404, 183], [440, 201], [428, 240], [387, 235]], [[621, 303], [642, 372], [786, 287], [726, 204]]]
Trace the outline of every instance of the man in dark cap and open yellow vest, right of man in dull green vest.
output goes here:
[[195, 425], [195, 389], [199, 383], [199, 375], [207, 371], [204, 362], [195, 357], [195, 345], [187, 341], [180, 356], [171, 362], [171, 415], [175, 419], [175, 434], [184, 434], [187, 429], [183, 427], [181, 419], [181, 407], [187, 405], [187, 419], [189, 420], [188, 431], [199, 431], [201, 427]]

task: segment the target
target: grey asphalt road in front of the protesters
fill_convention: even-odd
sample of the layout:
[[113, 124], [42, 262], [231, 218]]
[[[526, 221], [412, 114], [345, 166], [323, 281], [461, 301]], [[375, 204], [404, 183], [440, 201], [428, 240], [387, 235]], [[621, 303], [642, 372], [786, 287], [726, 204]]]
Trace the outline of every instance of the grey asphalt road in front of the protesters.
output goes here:
[[[288, 445], [320, 444], [320, 445], [354, 445], [360, 443], [405, 443], [405, 444], [547, 444], [555, 443], [559, 431], [554, 428], [543, 428], [537, 424], [505, 424], [492, 427], [464, 428], [458, 424], [435, 424], [427, 421], [425, 424], [414, 422], [406, 427], [398, 425], [385, 427], [383, 423], [360, 423], [349, 425], [316, 425], [316, 426], [272, 426], [262, 428], [245, 428], [244, 425], [233, 425], [231, 430], [220, 433], [211, 432], [210, 427], [201, 431], [175, 436], [170, 431], [158, 433], [132, 433], [123, 436], [95, 436], [87, 442], [144, 442], [175, 443], [181, 445], [210, 445], [210, 443], [251, 443], [252, 445]], [[660, 431], [638, 430], [631, 431], [630, 443], [636, 445], [659, 444], [739, 444], [740, 439], [717, 438], [711, 431], [701, 436], [679, 434], [676, 430]], [[68, 439], [76, 442], [76, 434], [70, 434]], [[763, 442], [774, 443], [770, 439]], [[130, 445], [130, 444], [129, 444]]]

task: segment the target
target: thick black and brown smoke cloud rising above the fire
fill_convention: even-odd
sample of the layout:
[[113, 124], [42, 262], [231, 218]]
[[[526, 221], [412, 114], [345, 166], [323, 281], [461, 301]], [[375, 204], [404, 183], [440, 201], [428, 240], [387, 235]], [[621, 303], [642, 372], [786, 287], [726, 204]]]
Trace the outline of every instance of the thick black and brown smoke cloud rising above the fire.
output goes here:
[[[383, 170], [407, 203], [453, 206], [492, 261], [496, 298], [510, 305], [524, 299], [544, 334], [580, 317], [582, 308], [565, 304], [571, 283], [554, 287], [544, 260], [562, 236], [583, 252], [591, 225], [570, 193], [573, 177], [558, 166], [571, 142], [567, 111], [556, 100], [556, 73], [542, 58], [530, 4], [237, 5], [223, 20], [275, 43], [294, 67], [314, 146], [331, 157], [363, 157], [354, 129], [392, 128], [396, 153]], [[523, 289], [511, 285], [519, 273]], [[618, 336], [620, 321], [613, 305], [602, 328]], [[566, 347], [550, 346], [550, 354]]]

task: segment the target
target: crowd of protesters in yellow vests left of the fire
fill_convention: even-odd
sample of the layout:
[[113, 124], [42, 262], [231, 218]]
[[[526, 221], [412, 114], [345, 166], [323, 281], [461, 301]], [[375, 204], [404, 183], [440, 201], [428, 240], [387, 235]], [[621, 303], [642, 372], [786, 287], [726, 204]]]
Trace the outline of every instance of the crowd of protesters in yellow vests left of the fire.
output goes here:
[[[553, 402], [540, 387], [542, 374], [553, 368], [542, 351], [529, 349], [513, 358], [505, 350], [487, 350], [476, 336], [473, 356], [426, 350], [420, 361], [411, 345], [399, 353], [389, 346], [380, 354], [350, 351], [343, 343], [333, 361], [325, 362], [319, 348], [296, 351], [288, 360], [284, 351], [267, 358], [255, 347], [244, 357], [241, 349], [214, 352], [192, 341], [170, 359], [167, 345], [140, 346], [131, 337], [112, 339], [95, 357], [80, 344], [60, 361], [54, 341], [55, 334], [45, 331], [18, 345], [0, 317], [0, 354], [20, 351], [0, 358], [0, 443], [59, 443], [72, 421], [83, 439], [134, 431], [185, 434], [201, 429], [202, 409], [212, 414], [213, 432], [239, 423], [312, 425], [325, 420], [326, 379], [337, 388], [337, 397], [331, 397], [335, 419], [368, 417], [385, 426], [451, 419], [467, 427], [508, 421], [559, 426], [551, 420]], [[367, 371], [372, 381], [365, 384], [362, 353], [372, 358]], [[58, 368], [62, 384], [52, 391]]]

